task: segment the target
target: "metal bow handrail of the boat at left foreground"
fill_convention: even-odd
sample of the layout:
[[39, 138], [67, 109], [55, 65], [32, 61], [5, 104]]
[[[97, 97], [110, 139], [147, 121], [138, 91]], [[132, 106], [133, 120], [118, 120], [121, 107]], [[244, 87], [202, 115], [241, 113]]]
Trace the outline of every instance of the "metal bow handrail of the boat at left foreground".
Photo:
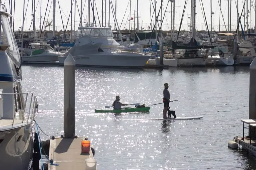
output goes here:
[[[30, 95], [30, 103], [29, 103], [29, 109], [27, 111], [27, 100]], [[26, 114], [27, 114], [27, 123], [32, 122], [35, 118], [36, 115], [36, 110], [38, 107], [38, 102], [37, 102], [37, 97], [33, 93], [0, 93], [0, 95], [14, 95], [15, 97], [15, 110], [14, 110], [14, 115], [13, 115], [13, 120], [12, 120], [12, 126], [14, 125], [14, 121], [17, 120], [16, 113], [18, 112], [20, 114], [20, 111], [22, 112], [23, 115], [19, 115], [19, 119], [22, 120], [22, 123], [24, 123], [24, 120], [26, 119]], [[25, 104], [23, 107], [22, 102], [19, 103], [20, 109], [17, 108], [18, 102], [21, 100], [20, 95], [25, 95]], [[24, 97], [24, 96], [23, 96]], [[33, 106], [32, 106], [33, 105]], [[31, 108], [32, 106], [32, 108]], [[16, 112], [17, 109], [17, 112]], [[21, 117], [22, 116], [22, 117]]]

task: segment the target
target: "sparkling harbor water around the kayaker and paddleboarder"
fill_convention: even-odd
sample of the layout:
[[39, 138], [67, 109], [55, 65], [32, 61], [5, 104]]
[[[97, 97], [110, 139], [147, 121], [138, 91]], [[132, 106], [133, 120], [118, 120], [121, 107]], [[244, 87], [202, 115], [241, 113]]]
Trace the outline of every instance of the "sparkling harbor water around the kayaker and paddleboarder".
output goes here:
[[[49, 135], [63, 134], [64, 68], [24, 65], [23, 91], [37, 95], [38, 124]], [[147, 121], [162, 118], [163, 105], [149, 113], [94, 113], [112, 105], [146, 106], [162, 102], [169, 83], [177, 117], [201, 120]], [[253, 157], [228, 148], [242, 135], [248, 118], [249, 67], [115, 69], [76, 68], [76, 134], [88, 136], [98, 169], [254, 169]], [[47, 136], [40, 133], [41, 138]]]

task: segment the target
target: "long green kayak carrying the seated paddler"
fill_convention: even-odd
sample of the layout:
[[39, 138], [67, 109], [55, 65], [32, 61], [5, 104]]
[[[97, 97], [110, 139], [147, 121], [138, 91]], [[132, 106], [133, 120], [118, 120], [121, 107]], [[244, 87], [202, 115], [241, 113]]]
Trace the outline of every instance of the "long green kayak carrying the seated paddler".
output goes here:
[[148, 112], [150, 107], [141, 107], [141, 108], [122, 108], [116, 110], [109, 109], [95, 109], [95, 113], [129, 113], [129, 112]]

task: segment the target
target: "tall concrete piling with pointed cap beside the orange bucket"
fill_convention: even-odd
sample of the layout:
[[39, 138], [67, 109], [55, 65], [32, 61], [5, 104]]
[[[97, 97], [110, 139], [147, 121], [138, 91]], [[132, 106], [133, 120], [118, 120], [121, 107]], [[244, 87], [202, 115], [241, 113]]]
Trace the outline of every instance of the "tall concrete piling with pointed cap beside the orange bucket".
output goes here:
[[75, 136], [75, 65], [68, 54], [64, 61], [64, 138]]

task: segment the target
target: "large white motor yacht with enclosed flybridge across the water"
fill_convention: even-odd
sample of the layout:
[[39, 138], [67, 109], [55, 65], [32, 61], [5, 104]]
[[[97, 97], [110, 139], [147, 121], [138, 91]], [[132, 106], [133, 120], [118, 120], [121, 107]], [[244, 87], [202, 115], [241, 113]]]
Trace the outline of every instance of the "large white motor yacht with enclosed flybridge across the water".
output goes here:
[[75, 45], [58, 57], [59, 64], [71, 54], [76, 65], [98, 67], [144, 67], [152, 55], [122, 49], [111, 28], [79, 27]]

